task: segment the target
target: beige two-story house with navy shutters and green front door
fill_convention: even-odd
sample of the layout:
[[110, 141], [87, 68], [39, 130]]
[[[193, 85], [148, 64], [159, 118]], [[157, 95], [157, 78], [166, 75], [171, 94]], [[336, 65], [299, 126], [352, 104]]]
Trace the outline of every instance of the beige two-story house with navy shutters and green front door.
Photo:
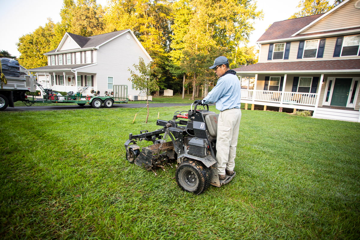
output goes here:
[[258, 63], [234, 69], [240, 79], [255, 77], [254, 89], [242, 89], [243, 103], [360, 122], [360, 0], [275, 22], [257, 44]]

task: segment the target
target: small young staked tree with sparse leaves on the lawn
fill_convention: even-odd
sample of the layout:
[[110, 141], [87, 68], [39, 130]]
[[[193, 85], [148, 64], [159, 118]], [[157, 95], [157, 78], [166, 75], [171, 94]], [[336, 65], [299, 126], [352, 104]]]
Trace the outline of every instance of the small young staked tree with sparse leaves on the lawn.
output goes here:
[[129, 71], [131, 72], [131, 78], [129, 78], [129, 81], [132, 81], [132, 83], [135, 85], [136, 90], [140, 90], [144, 95], [146, 95], [146, 107], [148, 110], [148, 114], [146, 116], [146, 123], [148, 123], [149, 118], [149, 95], [153, 91], [158, 91], [158, 79], [161, 77], [160, 75], [154, 76], [154, 70], [151, 68], [151, 63], [145, 64], [143, 58], [139, 58], [139, 64], [133, 65], [136, 72], [132, 71], [129, 68]]

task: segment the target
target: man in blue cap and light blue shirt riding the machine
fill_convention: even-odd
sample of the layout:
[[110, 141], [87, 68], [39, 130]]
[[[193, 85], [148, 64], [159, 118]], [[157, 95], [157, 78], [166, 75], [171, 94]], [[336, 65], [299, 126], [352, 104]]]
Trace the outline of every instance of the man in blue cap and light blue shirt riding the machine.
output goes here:
[[219, 77], [216, 86], [201, 101], [202, 104], [216, 103], [220, 111], [217, 121], [216, 161], [219, 179], [234, 175], [236, 146], [238, 144], [241, 119], [241, 84], [234, 70], [230, 70], [229, 61], [224, 56], [215, 59], [214, 69]]

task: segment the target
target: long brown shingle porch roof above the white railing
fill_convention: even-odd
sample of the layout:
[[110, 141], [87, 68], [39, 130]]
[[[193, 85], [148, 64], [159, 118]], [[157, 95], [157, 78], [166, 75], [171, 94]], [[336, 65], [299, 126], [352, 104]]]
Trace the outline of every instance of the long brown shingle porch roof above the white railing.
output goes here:
[[297, 61], [297, 62], [270, 62], [256, 63], [245, 67], [233, 69], [236, 72], [279, 72], [288, 71], [337, 71], [358, 70], [360, 71], [360, 59], [338, 59], [320, 61]]

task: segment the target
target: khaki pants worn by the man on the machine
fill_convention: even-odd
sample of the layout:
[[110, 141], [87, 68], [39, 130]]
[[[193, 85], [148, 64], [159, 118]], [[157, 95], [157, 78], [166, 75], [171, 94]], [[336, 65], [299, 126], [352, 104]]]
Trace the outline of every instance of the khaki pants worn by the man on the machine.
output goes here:
[[239, 108], [220, 111], [217, 122], [216, 161], [217, 171], [221, 175], [225, 175], [225, 169], [234, 171], [240, 119]]

